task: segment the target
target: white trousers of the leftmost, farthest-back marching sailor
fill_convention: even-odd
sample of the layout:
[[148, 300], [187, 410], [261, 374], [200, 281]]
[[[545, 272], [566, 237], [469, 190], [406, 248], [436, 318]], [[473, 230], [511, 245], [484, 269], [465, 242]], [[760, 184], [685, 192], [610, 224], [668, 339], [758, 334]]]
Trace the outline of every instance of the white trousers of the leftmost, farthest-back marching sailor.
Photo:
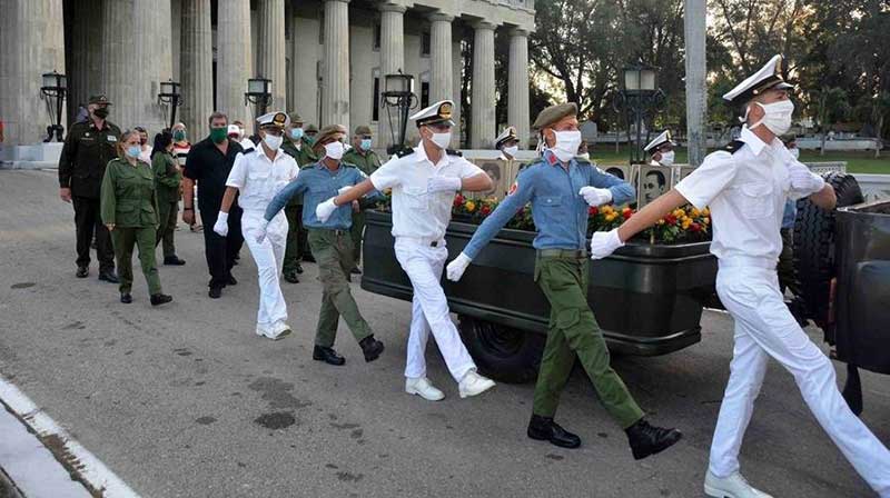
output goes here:
[[245, 210], [241, 216], [241, 233], [259, 273], [259, 311], [257, 325], [271, 328], [276, 321], [287, 320], [287, 303], [281, 293], [278, 276], [285, 261], [287, 246], [287, 218], [279, 212], [266, 227], [266, 238], [257, 243], [257, 228], [263, 223], [264, 211]]

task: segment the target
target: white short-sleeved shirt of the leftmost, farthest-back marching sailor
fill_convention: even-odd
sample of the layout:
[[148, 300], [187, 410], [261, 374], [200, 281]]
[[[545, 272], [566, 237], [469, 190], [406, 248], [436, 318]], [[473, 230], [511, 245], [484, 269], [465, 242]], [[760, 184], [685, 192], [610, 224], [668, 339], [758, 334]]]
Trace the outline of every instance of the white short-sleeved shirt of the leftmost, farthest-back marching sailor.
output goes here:
[[238, 189], [241, 209], [265, 211], [273, 197], [298, 173], [297, 161], [281, 149], [276, 151], [275, 161], [271, 161], [263, 147], [258, 147], [253, 152], [238, 153], [226, 187]]

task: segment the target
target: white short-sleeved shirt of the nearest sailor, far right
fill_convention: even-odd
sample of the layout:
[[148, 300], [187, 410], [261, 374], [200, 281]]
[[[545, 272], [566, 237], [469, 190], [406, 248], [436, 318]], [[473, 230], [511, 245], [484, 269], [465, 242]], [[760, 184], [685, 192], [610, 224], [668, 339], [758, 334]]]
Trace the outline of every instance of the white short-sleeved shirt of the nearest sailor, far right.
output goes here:
[[748, 127], [735, 153], [716, 151], [676, 186], [699, 209], [711, 208], [711, 252], [733, 257], [779, 259], [782, 251], [782, 213], [787, 198], [812, 192], [791, 188], [788, 166], [797, 162], [779, 139], [764, 143]]

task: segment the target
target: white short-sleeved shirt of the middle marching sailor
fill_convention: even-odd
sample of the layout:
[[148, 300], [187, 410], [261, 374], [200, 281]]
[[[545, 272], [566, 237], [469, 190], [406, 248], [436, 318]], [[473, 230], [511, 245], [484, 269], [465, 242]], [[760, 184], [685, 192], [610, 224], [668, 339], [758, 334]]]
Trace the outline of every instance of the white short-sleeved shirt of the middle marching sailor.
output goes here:
[[393, 189], [393, 237], [416, 237], [432, 242], [445, 237], [457, 192], [428, 193], [427, 180], [433, 176], [464, 179], [485, 172], [444, 150], [442, 159], [433, 165], [421, 145], [414, 153], [380, 166], [370, 175], [370, 182], [377, 190]]

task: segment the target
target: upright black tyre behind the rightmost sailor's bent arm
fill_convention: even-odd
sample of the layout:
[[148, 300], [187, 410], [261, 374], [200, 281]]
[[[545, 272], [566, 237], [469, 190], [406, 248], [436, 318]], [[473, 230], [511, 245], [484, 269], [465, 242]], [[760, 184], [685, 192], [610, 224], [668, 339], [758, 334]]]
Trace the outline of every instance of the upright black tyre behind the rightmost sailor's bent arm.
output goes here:
[[[838, 207], [862, 202], [862, 190], [850, 175], [831, 172], [825, 182], [834, 188]], [[833, 330], [828, 320], [831, 280], [834, 268], [834, 211], [817, 207], [809, 199], [798, 201], [794, 221], [794, 273], [800, 290], [799, 299], [807, 318], [812, 319], [825, 332], [825, 340], [833, 343]]]

